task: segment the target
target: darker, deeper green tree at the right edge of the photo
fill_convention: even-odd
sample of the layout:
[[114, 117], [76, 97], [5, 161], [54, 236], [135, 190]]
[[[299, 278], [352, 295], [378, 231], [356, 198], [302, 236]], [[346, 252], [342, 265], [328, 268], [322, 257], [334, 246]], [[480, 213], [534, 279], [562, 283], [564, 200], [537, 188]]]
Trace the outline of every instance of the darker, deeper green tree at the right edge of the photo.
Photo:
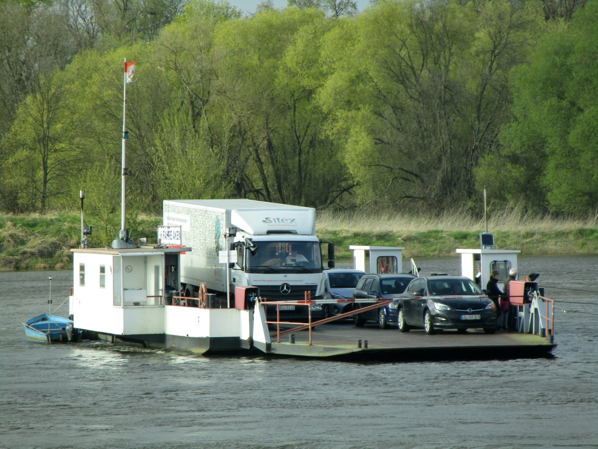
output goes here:
[[484, 161], [509, 174], [505, 201], [569, 214], [598, 208], [597, 14], [590, 2], [557, 23], [515, 71], [515, 119], [502, 157]]

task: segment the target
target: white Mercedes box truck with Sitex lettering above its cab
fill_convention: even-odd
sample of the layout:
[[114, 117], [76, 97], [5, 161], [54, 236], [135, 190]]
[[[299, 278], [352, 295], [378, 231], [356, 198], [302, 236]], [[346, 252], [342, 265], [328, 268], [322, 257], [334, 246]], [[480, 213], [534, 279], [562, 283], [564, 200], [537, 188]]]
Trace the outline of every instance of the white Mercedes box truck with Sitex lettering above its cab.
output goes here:
[[[312, 299], [324, 294], [313, 208], [250, 199], [167, 200], [163, 224], [180, 226], [182, 244], [193, 249], [181, 254], [185, 296], [197, 296], [205, 283], [209, 292], [225, 297], [227, 269], [231, 293], [236, 286], [259, 287], [269, 301], [301, 300], [307, 291]], [[230, 250], [228, 266], [225, 250]], [[328, 266], [334, 266], [332, 244], [328, 257]]]

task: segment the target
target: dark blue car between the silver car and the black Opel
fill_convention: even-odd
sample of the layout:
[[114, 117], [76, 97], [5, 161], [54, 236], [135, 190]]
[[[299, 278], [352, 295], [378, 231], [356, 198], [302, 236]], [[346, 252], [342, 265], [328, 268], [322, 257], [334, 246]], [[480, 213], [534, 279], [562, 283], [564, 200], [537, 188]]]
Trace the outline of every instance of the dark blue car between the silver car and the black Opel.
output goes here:
[[[376, 299], [392, 299], [405, 291], [408, 284], [415, 277], [411, 274], [367, 274], [359, 280], [357, 287], [353, 290], [355, 308], [362, 308], [373, 305]], [[359, 299], [369, 299], [368, 302], [359, 302]], [[381, 329], [389, 327], [389, 324], [396, 323], [396, 304], [390, 303], [383, 307], [376, 308], [356, 314], [355, 326], [363, 326], [366, 321], [377, 321]]]

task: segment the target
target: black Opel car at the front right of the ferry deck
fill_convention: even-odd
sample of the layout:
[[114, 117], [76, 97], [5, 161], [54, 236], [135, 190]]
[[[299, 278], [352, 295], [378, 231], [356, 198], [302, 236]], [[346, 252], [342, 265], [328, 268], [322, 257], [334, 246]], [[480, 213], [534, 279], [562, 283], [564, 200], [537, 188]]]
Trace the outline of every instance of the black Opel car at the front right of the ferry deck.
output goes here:
[[486, 333], [496, 331], [498, 311], [480, 287], [463, 276], [416, 278], [396, 301], [397, 321], [401, 332], [423, 327], [428, 334], [436, 329], [482, 327]]

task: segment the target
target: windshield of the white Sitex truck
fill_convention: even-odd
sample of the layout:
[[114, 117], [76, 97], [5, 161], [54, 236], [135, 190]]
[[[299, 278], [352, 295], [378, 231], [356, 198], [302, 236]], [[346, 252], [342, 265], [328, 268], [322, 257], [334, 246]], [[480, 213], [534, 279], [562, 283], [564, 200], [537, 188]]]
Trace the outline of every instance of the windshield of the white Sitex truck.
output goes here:
[[319, 242], [254, 241], [257, 248], [246, 251], [248, 273], [321, 272]]

